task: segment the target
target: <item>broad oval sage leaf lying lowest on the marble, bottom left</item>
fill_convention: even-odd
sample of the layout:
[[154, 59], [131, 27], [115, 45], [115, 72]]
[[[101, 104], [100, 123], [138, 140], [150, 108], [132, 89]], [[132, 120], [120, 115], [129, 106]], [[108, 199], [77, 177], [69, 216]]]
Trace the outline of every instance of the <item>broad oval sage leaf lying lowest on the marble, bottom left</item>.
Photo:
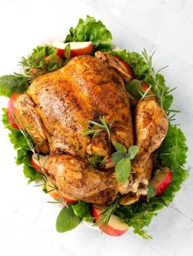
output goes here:
[[74, 214], [72, 204], [68, 205], [61, 209], [60, 213], [58, 214], [56, 220], [56, 230], [57, 232], [63, 233], [69, 230], [74, 229], [78, 224], [82, 221], [80, 217], [77, 217]]

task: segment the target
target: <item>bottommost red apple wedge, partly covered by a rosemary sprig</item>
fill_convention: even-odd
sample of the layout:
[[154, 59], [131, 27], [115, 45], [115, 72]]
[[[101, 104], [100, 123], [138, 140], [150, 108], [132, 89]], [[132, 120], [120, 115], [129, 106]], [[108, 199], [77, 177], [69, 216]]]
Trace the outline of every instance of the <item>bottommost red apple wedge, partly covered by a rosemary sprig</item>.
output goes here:
[[[93, 205], [92, 214], [93, 214], [93, 217], [95, 217], [95, 220], [94, 220], [95, 222], [100, 220], [99, 215], [103, 211], [104, 209], [95, 207]], [[103, 230], [103, 226], [104, 226], [104, 222], [99, 226], [99, 229]], [[127, 232], [128, 228], [129, 228], [129, 225], [123, 222], [121, 218], [119, 218], [118, 216], [112, 215], [110, 217], [110, 220], [108, 221], [108, 225], [106, 229], [104, 229], [103, 232], [110, 236], [118, 237], [124, 234], [125, 232]]]

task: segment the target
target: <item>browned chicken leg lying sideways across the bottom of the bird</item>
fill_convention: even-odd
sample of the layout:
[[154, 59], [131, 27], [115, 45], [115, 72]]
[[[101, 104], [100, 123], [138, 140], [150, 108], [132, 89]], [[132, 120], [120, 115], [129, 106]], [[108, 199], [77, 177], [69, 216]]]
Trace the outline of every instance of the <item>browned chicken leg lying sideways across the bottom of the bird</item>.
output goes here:
[[56, 186], [68, 195], [79, 199], [91, 197], [106, 188], [115, 191], [117, 187], [114, 174], [89, 167], [78, 156], [51, 156], [48, 166], [49, 175], [54, 179]]

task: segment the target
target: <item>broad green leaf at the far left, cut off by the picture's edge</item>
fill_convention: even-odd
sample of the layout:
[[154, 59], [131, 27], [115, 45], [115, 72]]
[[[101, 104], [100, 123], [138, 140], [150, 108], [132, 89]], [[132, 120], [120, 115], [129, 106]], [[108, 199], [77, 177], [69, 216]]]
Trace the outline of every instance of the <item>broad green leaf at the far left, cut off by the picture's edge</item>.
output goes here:
[[0, 77], [0, 96], [10, 97], [12, 93], [24, 93], [29, 85], [27, 79], [17, 75]]

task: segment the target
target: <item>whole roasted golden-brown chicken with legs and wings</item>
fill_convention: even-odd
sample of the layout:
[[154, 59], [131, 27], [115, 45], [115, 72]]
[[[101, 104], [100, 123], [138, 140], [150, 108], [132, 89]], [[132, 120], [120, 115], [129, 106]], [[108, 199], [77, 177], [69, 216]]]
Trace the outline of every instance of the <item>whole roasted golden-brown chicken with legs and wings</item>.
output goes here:
[[[15, 102], [19, 125], [43, 154], [49, 154], [48, 179], [59, 192], [93, 204], [111, 204], [118, 193], [127, 205], [147, 193], [153, 170], [152, 153], [166, 136], [166, 113], [155, 101], [139, 101], [132, 119], [130, 96], [124, 82], [129, 74], [109, 53], [76, 56], [65, 67], [33, 80]], [[88, 120], [104, 117], [112, 123], [110, 140], [102, 130], [85, 136]], [[115, 179], [115, 168], [96, 170], [88, 156], [110, 156], [111, 142], [139, 152], [125, 184]]]

